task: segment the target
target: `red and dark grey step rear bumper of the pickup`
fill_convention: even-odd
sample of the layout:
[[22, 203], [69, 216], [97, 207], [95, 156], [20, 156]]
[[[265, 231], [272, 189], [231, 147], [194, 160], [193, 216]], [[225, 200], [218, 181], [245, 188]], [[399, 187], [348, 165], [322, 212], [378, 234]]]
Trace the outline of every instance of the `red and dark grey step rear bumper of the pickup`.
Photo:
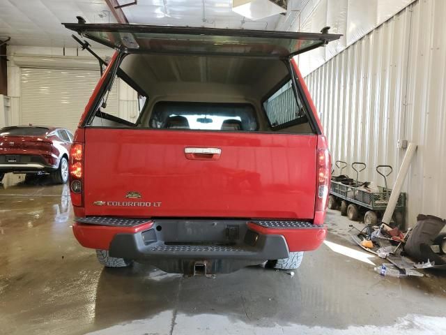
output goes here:
[[194, 271], [196, 262], [206, 262], [210, 274], [287, 258], [291, 251], [318, 248], [326, 234], [325, 227], [298, 221], [155, 220], [132, 225], [128, 219], [126, 225], [101, 225], [91, 218], [76, 220], [73, 232], [82, 246], [185, 274]]

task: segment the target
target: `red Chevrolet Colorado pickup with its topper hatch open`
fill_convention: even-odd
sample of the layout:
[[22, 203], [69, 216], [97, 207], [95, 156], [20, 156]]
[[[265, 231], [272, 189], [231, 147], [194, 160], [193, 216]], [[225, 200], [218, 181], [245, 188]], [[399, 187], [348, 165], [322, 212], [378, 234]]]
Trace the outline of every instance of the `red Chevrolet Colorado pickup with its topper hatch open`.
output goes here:
[[295, 269], [321, 245], [330, 155], [293, 56], [339, 35], [65, 26], [116, 50], [70, 151], [73, 231], [102, 265]]

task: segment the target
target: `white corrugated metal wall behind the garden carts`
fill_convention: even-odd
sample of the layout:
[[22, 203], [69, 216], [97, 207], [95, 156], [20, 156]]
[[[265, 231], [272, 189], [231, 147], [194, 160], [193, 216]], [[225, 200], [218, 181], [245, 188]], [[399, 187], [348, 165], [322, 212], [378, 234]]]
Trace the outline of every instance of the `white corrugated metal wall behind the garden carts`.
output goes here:
[[[406, 179], [408, 224], [419, 213], [446, 218], [446, 1], [419, 0], [306, 78], [333, 160], [367, 163], [361, 179], [418, 144]], [[352, 174], [352, 170], [347, 171]], [[365, 171], [364, 171], [365, 172]]]

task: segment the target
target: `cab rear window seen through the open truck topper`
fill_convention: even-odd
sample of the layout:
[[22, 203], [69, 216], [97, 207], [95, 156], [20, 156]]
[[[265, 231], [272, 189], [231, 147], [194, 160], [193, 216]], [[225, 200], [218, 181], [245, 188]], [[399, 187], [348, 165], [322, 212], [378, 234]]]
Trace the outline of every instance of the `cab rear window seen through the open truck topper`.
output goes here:
[[256, 131], [256, 114], [245, 103], [160, 102], [153, 107], [151, 128], [206, 131]]

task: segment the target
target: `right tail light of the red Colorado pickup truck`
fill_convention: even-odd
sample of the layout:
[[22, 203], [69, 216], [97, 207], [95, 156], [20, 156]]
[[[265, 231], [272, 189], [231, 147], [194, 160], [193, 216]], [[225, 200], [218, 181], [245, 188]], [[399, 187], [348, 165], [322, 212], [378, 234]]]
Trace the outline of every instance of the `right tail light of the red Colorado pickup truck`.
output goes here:
[[322, 225], [328, 205], [330, 193], [330, 152], [325, 137], [318, 138], [316, 202], [314, 208], [314, 224]]

